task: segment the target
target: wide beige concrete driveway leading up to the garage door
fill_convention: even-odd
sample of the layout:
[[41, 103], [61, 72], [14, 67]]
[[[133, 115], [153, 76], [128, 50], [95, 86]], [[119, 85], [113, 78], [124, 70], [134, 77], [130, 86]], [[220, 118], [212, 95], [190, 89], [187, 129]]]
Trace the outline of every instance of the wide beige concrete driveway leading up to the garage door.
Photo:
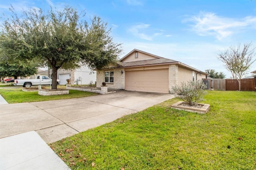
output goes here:
[[1, 105], [8, 109], [0, 110], [0, 138], [36, 131], [46, 143], [53, 143], [173, 97], [117, 91], [85, 98]]

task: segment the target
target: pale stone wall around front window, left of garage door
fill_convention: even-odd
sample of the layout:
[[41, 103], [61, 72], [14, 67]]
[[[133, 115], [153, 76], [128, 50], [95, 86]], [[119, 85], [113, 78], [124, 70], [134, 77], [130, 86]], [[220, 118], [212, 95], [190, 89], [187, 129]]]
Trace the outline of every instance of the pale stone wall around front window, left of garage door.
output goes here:
[[[123, 74], [121, 74], [121, 70], [123, 71]], [[111, 71], [111, 70], [110, 70]], [[97, 84], [96, 87], [100, 88], [102, 85], [102, 82], [104, 82], [104, 75], [105, 72], [97, 71]], [[114, 83], [106, 83], [108, 88], [114, 88], [114, 89], [122, 89], [124, 90], [125, 86], [125, 71], [124, 69], [115, 69], [114, 70]]]

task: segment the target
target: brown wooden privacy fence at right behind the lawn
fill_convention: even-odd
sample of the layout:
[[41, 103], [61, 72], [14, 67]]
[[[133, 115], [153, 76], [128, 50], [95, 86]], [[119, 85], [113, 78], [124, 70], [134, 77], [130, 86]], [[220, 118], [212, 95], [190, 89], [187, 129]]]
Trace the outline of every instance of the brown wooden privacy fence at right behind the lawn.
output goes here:
[[[204, 81], [209, 81], [209, 89], [239, 90], [236, 79], [204, 78]], [[241, 91], [256, 91], [256, 78], [241, 79]]]

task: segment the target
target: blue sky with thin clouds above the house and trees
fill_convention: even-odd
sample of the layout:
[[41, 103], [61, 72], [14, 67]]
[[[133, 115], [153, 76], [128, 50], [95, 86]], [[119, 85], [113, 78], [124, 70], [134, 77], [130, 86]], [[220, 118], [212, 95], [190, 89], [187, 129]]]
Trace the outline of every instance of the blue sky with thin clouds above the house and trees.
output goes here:
[[[199, 70], [231, 74], [218, 53], [238, 43], [256, 45], [256, 0], [0, 0], [0, 11], [72, 6], [108, 22], [124, 55], [139, 49]], [[1, 18], [1, 22], [3, 18]], [[256, 63], [250, 72], [256, 70]], [[250, 76], [251, 73], [248, 73]]]

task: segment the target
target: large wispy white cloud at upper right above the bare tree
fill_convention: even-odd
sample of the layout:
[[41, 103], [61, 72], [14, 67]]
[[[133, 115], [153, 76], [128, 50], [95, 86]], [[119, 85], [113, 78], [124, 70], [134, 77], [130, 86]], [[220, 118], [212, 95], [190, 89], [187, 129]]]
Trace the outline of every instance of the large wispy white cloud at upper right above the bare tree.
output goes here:
[[200, 36], [212, 35], [221, 40], [241, 29], [255, 27], [256, 16], [234, 19], [217, 16], [210, 12], [201, 12], [198, 16], [191, 16], [183, 22], [192, 22], [192, 31]]

